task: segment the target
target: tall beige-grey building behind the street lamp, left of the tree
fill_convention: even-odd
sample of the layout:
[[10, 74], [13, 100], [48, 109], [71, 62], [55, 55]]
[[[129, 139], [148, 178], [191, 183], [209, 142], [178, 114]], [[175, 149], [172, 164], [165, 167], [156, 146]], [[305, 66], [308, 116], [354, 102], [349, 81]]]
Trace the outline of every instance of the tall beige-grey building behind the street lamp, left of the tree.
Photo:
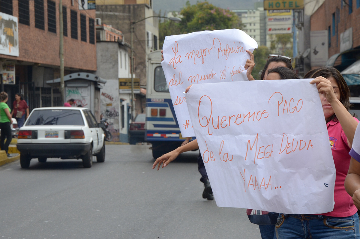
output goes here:
[[[134, 29], [134, 76], [140, 87], [146, 89], [148, 54], [159, 49], [159, 20], [152, 9], [151, 0], [109, 0], [96, 2], [96, 18], [120, 30], [131, 44], [131, 26]], [[135, 23], [136, 22], [136, 23]], [[134, 23], [134, 24], [132, 24]], [[129, 52], [130, 53], [130, 52]], [[134, 118], [145, 110], [144, 94], [135, 94]]]

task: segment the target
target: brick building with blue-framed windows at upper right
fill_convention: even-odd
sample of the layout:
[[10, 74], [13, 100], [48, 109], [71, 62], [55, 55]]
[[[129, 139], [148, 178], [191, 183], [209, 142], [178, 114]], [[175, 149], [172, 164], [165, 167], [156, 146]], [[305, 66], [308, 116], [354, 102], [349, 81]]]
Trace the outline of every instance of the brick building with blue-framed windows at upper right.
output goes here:
[[[360, 95], [359, 19], [360, 0], [324, 1], [310, 18], [310, 33], [324, 33], [321, 37], [328, 48], [326, 64], [336, 67], [342, 73], [352, 96]], [[311, 41], [316, 41], [311, 35], [310, 38]], [[313, 44], [311, 45], [314, 53]], [[311, 64], [311, 67], [316, 65]]]

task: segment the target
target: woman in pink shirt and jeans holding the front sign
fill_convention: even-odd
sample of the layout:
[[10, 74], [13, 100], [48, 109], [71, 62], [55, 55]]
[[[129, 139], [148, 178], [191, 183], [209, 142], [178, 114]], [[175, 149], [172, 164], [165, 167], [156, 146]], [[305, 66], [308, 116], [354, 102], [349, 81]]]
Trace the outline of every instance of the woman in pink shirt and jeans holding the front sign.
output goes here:
[[[350, 164], [348, 154], [357, 123], [348, 112], [350, 90], [340, 72], [334, 67], [320, 67], [305, 75], [315, 78], [327, 123], [329, 141], [336, 168], [334, 188], [334, 210], [319, 215], [279, 215], [276, 224], [278, 237], [281, 238], [357, 238], [359, 216], [344, 182]], [[310, 202], [311, 203], [311, 202]]]

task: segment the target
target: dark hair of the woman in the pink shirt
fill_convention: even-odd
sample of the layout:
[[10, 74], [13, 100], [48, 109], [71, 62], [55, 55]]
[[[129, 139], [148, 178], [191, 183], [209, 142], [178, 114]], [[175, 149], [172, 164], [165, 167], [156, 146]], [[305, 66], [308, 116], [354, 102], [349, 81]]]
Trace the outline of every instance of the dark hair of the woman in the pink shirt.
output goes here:
[[[344, 77], [340, 74], [340, 72], [332, 66], [322, 66], [316, 69], [312, 69], [310, 72], [306, 73], [305, 78], [316, 78], [316, 77], [325, 77], [330, 78], [333, 77], [336, 83], [339, 86], [340, 91], [340, 102], [344, 105], [344, 107], [349, 110], [350, 109], [350, 89], [346, 84]], [[330, 118], [332, 120], [335, 118], [335, 114]]]

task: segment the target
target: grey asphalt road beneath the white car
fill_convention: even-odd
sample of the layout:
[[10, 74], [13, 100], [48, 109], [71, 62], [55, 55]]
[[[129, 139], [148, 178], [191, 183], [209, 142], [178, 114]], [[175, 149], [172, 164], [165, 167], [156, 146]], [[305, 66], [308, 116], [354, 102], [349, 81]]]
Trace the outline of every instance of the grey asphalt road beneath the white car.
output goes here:
[[106, 145], [91, 168], [55, 158], [0, 167], [0, 238], [261, 238], [246, 209], [202, 198], [198, 152], [156, 171], [148, 148]]

